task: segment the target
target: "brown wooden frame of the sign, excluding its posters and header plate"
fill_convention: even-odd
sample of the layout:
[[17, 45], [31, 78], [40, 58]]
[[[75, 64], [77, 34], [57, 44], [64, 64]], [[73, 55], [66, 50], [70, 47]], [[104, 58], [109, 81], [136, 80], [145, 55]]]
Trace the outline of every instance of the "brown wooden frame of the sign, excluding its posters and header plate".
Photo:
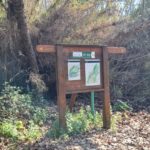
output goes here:
[[[126, 49], [122, 47], [107, 47], [97, 45], [38, 45], [38, 52], [56, 53], [57, 59], [57, 102], [59, 109], [59, 122], [61, 128], [66, 128], [66, 94], [72, 94], [70, 109], [72, 109], [77, 93], [100, 91], [103, 92], [103, 127], [110, 128], [111, 114], [110, 114], [110, 92], [109, 92], [109, 61], [108, 54], [121, 54], [125, 53]], [[78, 58], [80, 61], [80, 80], [69, 81], [67, 76], [67, 62], [72, 59], [74, 52], [94, 52], [95, 57], [89, 60], [100, 60], [100, 85], [87, 86], [85, 84], [85, 59]]]

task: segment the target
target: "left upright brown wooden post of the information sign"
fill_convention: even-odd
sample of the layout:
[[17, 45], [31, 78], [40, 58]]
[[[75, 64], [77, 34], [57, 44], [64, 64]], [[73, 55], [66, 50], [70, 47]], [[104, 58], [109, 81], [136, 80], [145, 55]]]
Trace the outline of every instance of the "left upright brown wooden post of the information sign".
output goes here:
[[64, 59], [63, 47], [56, 47], [57, 53], [57, 103], [59, 109], [59, 125], [60, 128], [66, 129], [66, 89], [64, 76]]

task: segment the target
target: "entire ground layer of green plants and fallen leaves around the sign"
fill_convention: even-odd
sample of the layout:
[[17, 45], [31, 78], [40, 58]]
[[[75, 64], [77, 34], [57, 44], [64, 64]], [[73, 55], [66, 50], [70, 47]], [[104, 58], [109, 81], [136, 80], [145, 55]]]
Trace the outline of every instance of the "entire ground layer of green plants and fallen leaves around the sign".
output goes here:
[[59, 130], [57, 106], [43, 100], [38, 96], [35, 99], [34, 91], [25, 94], [23, 89], [5, 84], [0, 96], [0, 149], [150, 148], [150, 114], [146, 106], [135, 110], [127, 102], [114, 102], [111, 129], [104, 130], [101, 111], [93, 116], [90, 106], [78, 100], [78, 111], [66, 113], [68, 130], [64, 131]]

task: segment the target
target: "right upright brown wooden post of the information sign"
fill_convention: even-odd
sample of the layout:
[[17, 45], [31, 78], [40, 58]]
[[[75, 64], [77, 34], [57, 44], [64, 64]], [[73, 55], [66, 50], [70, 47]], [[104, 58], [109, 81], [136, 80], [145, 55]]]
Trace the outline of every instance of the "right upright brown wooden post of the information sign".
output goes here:
[[109, 92], [109, 61], [108, 61], [108, 50], [105, 47], [103, 47], [103, 84], [104, 84], [103, 127], [105, 129], [109, 129], [111, 126], [110, 92]]

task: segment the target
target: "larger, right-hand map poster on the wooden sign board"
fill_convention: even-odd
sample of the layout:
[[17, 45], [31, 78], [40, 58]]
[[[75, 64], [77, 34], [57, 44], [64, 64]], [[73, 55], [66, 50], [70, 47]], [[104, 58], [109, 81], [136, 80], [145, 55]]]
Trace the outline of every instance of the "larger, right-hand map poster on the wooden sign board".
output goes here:
[[85, 81], [86, 86], [101, 84], [100, 60], [85, 60]]

